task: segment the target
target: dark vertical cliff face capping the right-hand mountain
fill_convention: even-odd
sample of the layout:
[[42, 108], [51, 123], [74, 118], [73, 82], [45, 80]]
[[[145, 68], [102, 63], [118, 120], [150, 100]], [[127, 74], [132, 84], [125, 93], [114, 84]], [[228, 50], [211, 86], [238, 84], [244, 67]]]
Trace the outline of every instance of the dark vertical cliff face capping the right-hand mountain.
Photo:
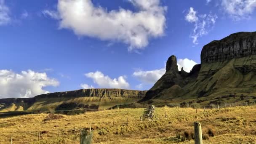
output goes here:
[[256, 32], [237, 32], [214, 40], [201, 51], [201, 63], [226, 61], [256, 54]]

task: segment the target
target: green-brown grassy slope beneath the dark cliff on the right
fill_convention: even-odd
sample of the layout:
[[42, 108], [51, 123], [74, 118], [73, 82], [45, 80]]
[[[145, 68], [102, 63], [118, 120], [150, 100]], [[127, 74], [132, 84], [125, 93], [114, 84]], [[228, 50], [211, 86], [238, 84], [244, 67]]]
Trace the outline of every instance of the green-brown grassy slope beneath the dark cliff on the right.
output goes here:
[[[171, 88], [164, 89], [163, 96], [153, 99], [152, 104], [163, 105], [168, 103], [181, 103], [182, 101], [193, 101], [198, 99], [198, 93], [205, 92], [199, 99], [205, 100], [201, 103], [207, 105], [209, 101], [230, 94], [236, 95], [235, 99], [221, 99], [226, 103], [254, 101], [256, 96], [256, 72], [242, 74], [236, 67], [256, 67], [256, 56], [232, 59], [230, 61], [202, 64], [197, 80], [188, 83], [183, 88], [173, 85]], [[209, 73], [217, 71], [209, 77]], [[241, 95], [247, 96], [240, 100]]]

